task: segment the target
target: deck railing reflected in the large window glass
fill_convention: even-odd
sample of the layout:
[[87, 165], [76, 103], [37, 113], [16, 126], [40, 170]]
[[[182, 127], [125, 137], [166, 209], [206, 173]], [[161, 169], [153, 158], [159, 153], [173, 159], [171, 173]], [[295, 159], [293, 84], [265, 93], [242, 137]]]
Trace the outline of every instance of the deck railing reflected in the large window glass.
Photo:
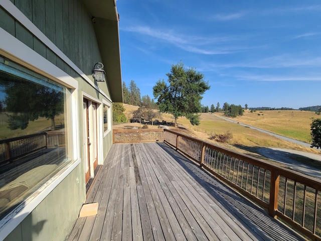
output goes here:
[[64, 132], [43, 132], [0, 141], [0, 165], [29, 153], [65, 145]]

